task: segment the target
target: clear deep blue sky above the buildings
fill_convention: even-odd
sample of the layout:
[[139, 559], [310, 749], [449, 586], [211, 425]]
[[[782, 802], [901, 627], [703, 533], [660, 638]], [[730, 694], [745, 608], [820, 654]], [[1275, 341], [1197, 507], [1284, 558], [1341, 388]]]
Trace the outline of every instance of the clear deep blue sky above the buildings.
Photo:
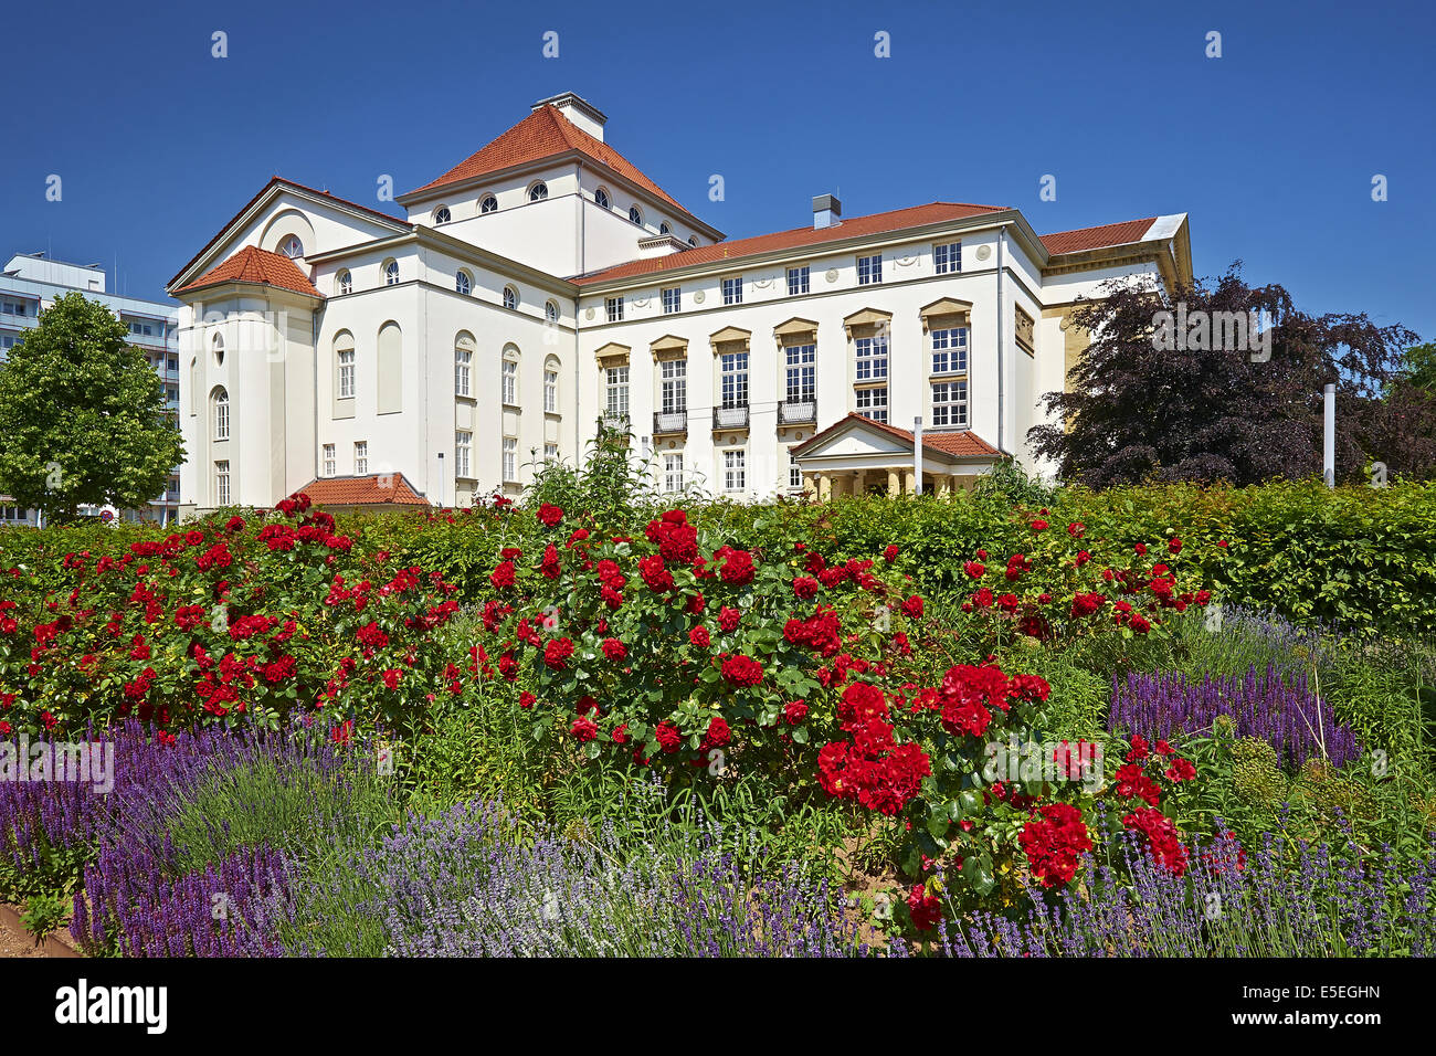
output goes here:
[[847, 216], [1017, 205], [1038, 233], [1185, 211], [1198, 274], [1241, 259], [1305, 310], [1436, 339], [1433, 27], [1429, 4], [1249, 0], [23, 4], [0, 251], [118, 254], [112, 289], [158, 296], [276, 172], [379, 205], [381, 174], [412, 190], [574, 91], [729, 237], [807, 224], [830, 190]]

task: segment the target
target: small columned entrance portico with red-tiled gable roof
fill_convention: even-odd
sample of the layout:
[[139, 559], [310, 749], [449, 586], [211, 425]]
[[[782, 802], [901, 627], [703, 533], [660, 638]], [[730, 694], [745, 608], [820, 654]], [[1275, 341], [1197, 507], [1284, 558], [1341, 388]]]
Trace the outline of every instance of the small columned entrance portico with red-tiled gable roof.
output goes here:
[[[829, 425], [793, 450], [803, 488], [819, 500], [840, 496], [915, 494], [913, 435], [860, 414]], [[971, 430], [923, 432], [922, 490], [969, 490], [1002, 454]]]

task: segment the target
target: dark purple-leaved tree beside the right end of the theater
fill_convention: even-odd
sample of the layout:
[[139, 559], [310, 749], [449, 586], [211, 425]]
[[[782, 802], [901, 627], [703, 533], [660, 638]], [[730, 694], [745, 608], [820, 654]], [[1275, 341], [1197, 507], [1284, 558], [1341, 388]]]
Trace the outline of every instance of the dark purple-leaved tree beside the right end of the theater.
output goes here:
[[[1393, 434], [1381, 399], [1399, 375], [1400, 349], [1416, 338], [1410, 330], [1377, 326], [1366, 315], [1310, 316], [1284, 287], [1242, 282], [1239, 263], [1215, 283], [1173, 290], [1170, 300], [1132, 282], [1109, 283], [1101, 293], [1073, 315], [1093, 339], [1070, 372], [1068, 391], [1043, 397], [1066, 427], [1028, 434], [1066, 480], [1251, 484], [1320, 474], [1328, 382], [1337, 385], [1338, 478], [1361, 476], [1371, 460], [1396, 458], [1370, 444]], [[1259, 312], [1262, 341], [1252, 333], [1246, 348], [1234, 348], [1198, 339], [1193, 329], [1192, 341], [1159, 348], [1157, 313], [1179, 305], [1193, 326], [1213, 313]]]

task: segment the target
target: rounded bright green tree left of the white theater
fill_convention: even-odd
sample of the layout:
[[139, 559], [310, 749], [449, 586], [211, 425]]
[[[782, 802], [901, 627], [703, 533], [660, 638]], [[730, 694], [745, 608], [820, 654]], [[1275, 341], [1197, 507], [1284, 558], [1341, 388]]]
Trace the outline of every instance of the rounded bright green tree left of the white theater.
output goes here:
[[0, 365], [0, 491], [20, 506], [135, 509], [182, 460], [164, 385], [103, 305], [60, 297]]

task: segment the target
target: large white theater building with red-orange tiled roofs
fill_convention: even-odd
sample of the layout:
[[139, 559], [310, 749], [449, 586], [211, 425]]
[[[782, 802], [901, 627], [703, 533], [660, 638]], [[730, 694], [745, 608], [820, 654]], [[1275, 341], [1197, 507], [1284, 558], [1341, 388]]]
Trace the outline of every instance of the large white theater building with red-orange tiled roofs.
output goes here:
[[965, 487], [1028, 450], [1084, 346], [1074, 302], [1190, 279], [1186, 216], [1038, 236], [932, 203], [725, 241], [576, 95], [432, 182], [406, 220], [271, 180], [169, 284], [191, 511], [468, 504], [626, 424], [656, 484]]

